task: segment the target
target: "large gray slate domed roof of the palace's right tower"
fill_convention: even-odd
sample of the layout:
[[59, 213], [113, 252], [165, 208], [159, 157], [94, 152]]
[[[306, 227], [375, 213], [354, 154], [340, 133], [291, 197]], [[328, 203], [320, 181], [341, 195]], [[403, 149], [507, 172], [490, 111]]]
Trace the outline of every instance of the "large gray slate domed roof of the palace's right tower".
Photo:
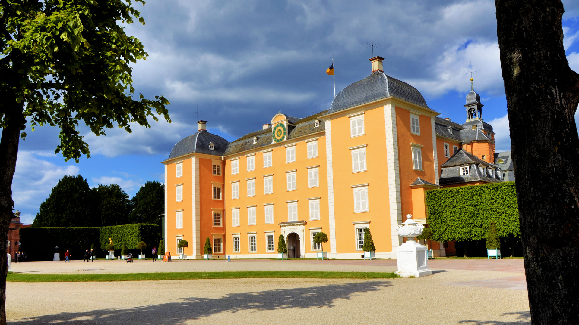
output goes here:
[[364, 79], [347, 86], [336, 95], [328, 113], [366, 104], [382, 98], [396, 97], [418, 106], [428, 108], [424, 97], [415, 87], [385, 75], [372, 72]]

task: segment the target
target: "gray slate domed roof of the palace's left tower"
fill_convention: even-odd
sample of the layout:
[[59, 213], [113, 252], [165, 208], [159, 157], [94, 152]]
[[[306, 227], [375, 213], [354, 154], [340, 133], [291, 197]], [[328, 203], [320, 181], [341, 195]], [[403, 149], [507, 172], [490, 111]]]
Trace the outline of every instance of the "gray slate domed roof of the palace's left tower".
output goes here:
[[[209, 149], [210, 143], [213, 143], [213, 150]], [[171, 150], [169, 159], [190, 153], [204, 153], [214, 156], [222, 156], [227, 149], [228, 143], [227, 140], [221, 138], [219, 135], [209, 133], [206, 130], [199, 130], [196, 134], [189, 135], [177, 142]]]

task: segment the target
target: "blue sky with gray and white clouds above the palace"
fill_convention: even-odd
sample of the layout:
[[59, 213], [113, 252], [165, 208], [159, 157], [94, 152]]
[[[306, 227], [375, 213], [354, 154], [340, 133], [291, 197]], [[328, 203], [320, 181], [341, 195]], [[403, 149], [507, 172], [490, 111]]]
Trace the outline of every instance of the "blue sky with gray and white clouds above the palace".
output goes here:
[[[563, 1], [565, 49], [579, 72], [579, 4]], [[78, 164], [54, 154], [58, 130], [27, 130], [13, 182], [15, 209], [31, 223], [63, 175], [80, 173], [91, 186], [119, 184], [134, 195], [147, 180], [163, 182], [173, 145], [207, 120], [210, 132], [232, 141], [259, 130], [281, 111], [305, 117], [334, 98], [325, 69], [335, 61], [336, 93], [371, 72], [367, 43], [378, 44], [387, 75], [415, 86], [427, 104], [463, 123], [464, 97], [475, 91], [483, 118], [496, 132], [497, 150], [509, 150], [507, 108], [492, 0], [477, 1], [177, 1], [138, 8], [146, 25], [128, 25], [149, 57], [133, 65], [135, 93], [163, 94], [173, 123], [108, 130], [80, 128], [91, 158]], [[577, 116], [576, 116], [577, 119]]]

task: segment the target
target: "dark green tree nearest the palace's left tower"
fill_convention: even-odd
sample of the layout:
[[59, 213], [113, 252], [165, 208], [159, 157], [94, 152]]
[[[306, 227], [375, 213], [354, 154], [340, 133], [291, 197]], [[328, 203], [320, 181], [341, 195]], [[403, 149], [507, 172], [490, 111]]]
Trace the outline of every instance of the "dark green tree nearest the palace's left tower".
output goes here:
[[164, 185], [148, 180], [131, 199], [131, 206], [130, 223], [150, 223], [162, 227], [163, 218], [159, 215], [165, 209]]

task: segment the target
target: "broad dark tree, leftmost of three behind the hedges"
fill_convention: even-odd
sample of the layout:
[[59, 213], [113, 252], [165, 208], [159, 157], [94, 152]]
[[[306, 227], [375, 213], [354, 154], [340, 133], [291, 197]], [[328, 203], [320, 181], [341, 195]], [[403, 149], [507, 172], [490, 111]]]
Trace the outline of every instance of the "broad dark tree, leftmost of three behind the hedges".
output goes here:
[[42, 202], [33, 227], [98, 227], [95, 193], [82, 176], [64, 176]]

